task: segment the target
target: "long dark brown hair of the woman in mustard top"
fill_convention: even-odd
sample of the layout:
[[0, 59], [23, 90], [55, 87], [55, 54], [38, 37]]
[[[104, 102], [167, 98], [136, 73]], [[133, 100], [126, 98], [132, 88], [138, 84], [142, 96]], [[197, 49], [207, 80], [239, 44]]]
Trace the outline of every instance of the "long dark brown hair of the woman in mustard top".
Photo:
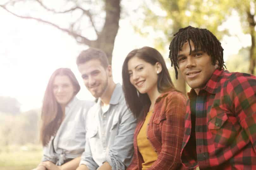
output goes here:
[[157, 89], [160, 93], [166, 92], [170, 89], [174, 89], [174, 85], [162, 55], [155, 48], [143, 47], [132, 50], [126, 56], [123, 63], [123, 90], [125, 93], [126, 104], [132, 111], [133, 115], [139, 118], [143, 106], [149, 105], [151, 102], [147, 93], [142, 94], [138, 92], [137, 89], [130, 82], [128, 61], [133, 57], [143, 59], [151, 65], [155, 65], [156, 62], [159, 62], [162, 65], [162, 71], [158, 74], [157, 78]]

